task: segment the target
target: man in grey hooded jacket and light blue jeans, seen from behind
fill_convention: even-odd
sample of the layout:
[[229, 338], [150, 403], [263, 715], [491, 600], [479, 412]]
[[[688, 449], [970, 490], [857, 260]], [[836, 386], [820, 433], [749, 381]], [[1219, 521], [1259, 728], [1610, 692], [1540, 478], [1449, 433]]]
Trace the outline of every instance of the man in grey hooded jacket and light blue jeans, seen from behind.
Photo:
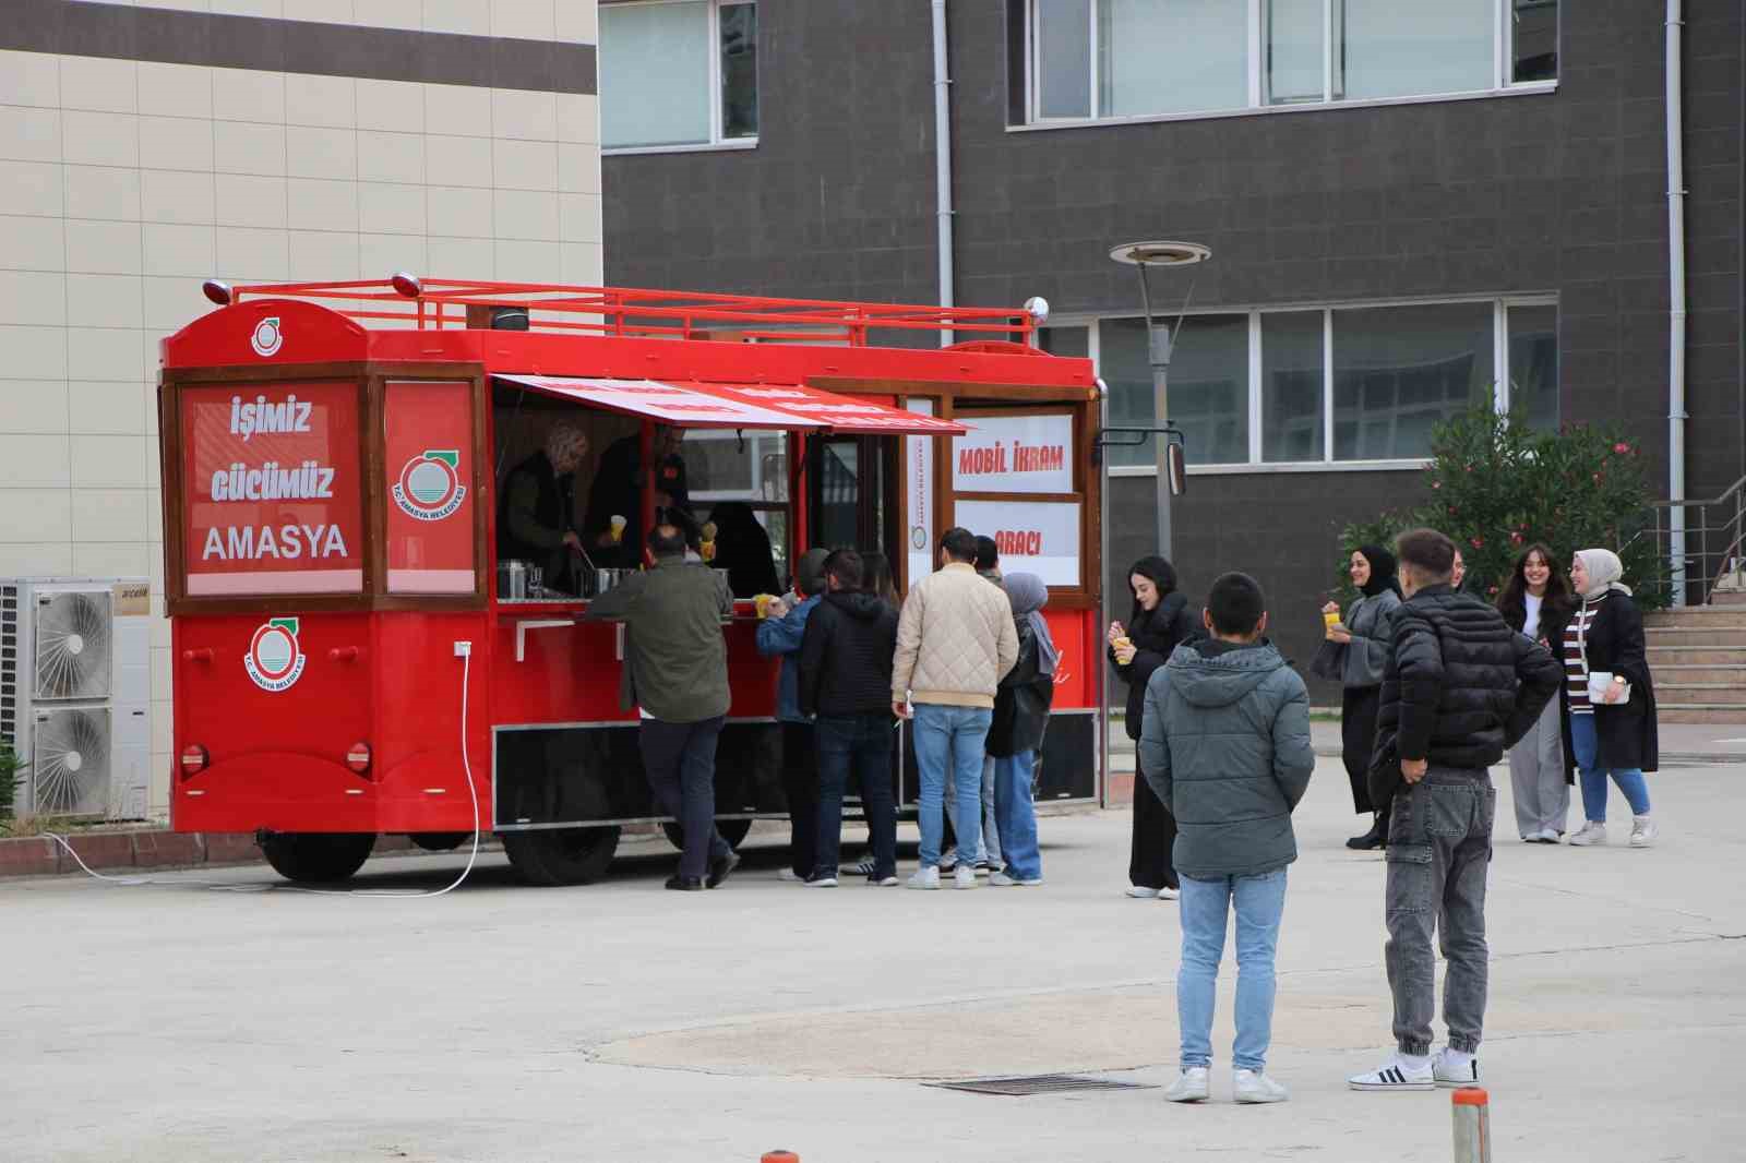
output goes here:
[[1208, 1097], [1213, 988], [1234, 906], [1231, 1088], [1238, 1102], [1283, 1102], [1287, 1090], [1264, 1070], [1285, 866], [1297, 859], [1292, 809], [1315, 768], [1310, 692], [1262, 637], [1266, 599], [1254, 578], [1227, 573], [1213, 582], [1201, 618], [1212, 637], [1177, 646], [1152, 672], [1140, 733], [1140, 772], [1177, 819], [1182, 878], [1182, 1076], [1165, 1097]]

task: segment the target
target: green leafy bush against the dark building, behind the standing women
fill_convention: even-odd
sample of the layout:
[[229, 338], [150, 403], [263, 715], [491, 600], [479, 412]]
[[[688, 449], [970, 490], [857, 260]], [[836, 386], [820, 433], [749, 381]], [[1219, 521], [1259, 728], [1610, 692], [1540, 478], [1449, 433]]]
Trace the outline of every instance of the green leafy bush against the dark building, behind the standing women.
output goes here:
[[[1351, 550], [1392, 545], [1406, 529], [1428, 526], [1449, 534], [1467, 562], [1467, 590], [1496, 601], [1524, 547], [1543, 541], [1568, 569], [1575, 550], [1619, 550], [1652, 499], [1641, 452], [1617, 428], [1535, 431], [1521, 414], [1498, 416], [1489, 407], [1435, 428], [1425, 480], [1432, 492], [1425, 505], [1346, 526], [1337, 564], [1341, 604], [1357, 597], [1346, 576]], [[1622, 559], [1638, 602], [1666, 604], [1660, 587], [1643, 585], [1659, 569], [1652, 540], [1636, 541]]]

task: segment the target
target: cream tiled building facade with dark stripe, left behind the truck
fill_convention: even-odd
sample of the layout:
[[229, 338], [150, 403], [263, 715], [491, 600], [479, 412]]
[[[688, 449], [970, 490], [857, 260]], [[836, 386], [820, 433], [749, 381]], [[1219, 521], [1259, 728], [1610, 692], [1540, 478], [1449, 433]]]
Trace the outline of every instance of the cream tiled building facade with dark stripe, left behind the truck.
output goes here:
[[9, 0], [0, 576], [150, 578], [162, 615], [157, 342], [203, 279], [599, 283], [594, 45], [594, 0]]

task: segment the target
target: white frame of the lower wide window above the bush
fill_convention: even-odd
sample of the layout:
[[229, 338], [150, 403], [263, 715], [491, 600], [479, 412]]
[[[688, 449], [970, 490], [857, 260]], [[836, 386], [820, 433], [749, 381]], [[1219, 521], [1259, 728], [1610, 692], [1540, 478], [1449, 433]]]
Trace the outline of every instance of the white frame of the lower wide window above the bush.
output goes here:
[[[1437, 297], [1414, 297], [1414, 299], [1358, 299], [1358, 300], [1336, 300], [1336, 302], [1306, 302], [1306, 304], [1269, 304], [1266, 307], [1213, 307], [1208, 311], [1196, 311], [1196, 316], [1208, 314], [1241, 314], [1248, 318], [1248, 459], [1245, 461], [1220, 461], [1217, 465], [1189, 465], [1187, 471], [1193, 477], [1229, 477], [1229, 475], [1247, 475], [1247, 473], [1315, 473], [1315, 471], [1400, 471], [1400, 470], [1418, 470], [1430, 465], [1430, 458], [1397, 458], [1397, 459], [1336, 459], [1334, 458], [1334, 313], [1336, 311], [1353, 311], [1353, 309], [1386, 309], [1386, 307], [1444, 307], [1444, 306], [1463, 306], [1463, 304], [1489, 304], [1491, 306], [1491, 344], [1493, 344], [1493, 407], [1498, 414], [1507, 414], [1510, 410], [1510, 332], [1509, 332], [1509, 313], [1512, 307], [1559, 307], [1557, 295], [1554, 292], [1519, 292], [1512, 295], [1437, 295]], [[1261, 382], [1262, 368], [1262, 348], [1261, 348], [1261, 321], [1268, 314], [1304, 314], [1310, 311], [1318, 311], [1322, 314], [1322, 459], [1316, 461], [1266, 461], [1264, 456], [1264, 403], [1266, 393]], [[1114, 320], [1138, 320], [1137, 313], [1117, 311], [1117, 313], [1058, 313], [1049, 320], [1048, 328], [1039, 328], [1032, 334], [1030, 344], [1034, 348], [1042, 348], [1042, 330], [1055, 328], [1086, 328], [1086, 358], [1091, 360], [1091, 367], [1096, 370], [1098, 377], [1103, 375], [1103, 351], [1100, 339], [1100, 323]], [[1165, 321], [1168, 323], [1166, 316]], [[1191, 325], [1193, 328], [1193, 325]], [[1563, 377], [1563, 370], [1561, 370]], [[1559, 396], [1563, 398], [1563, 384], [1559, 384]], [[1109, 465], [1105, 471], [1110, 477], [1156, 477], [1158, 466], [1142, 465]]]

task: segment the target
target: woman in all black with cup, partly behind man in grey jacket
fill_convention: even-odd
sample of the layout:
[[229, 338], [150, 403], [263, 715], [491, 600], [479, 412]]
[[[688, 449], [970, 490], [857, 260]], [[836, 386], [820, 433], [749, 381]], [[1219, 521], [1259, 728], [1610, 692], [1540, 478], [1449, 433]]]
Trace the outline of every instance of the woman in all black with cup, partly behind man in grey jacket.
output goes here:
[[[1138, 742], [1140, 716], [1145, 712], [1145, 683], [1152, 671], [1170, 660], [1179, 643], [1201, 632], [1177, 594], [1177, 571], [1163, 557], [1142, 557], [1128, 571], [1133, 613], [1128, 625], [1109, 623], [1109, 660], [1116, 676], [1128, 685], [1128, 739]], [[1173, 901], [1180, 896], [1170, 850], [1177, 843], [1177, 821], [1151, 784], [1133, 781], [1133, 842], [1128, 850], [1128, 896]]]

